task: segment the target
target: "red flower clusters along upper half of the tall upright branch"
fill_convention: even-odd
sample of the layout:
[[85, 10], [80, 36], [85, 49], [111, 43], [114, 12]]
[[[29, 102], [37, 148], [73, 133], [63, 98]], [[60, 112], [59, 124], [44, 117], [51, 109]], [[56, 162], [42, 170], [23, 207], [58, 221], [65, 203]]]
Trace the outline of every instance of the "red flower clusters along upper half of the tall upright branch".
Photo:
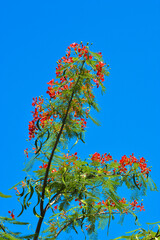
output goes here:
[[[73, 56], [75, 55], [75, 57], [72, 57], [71, 54]], [[98, 53], [97, 55], [99, 56], [99, 58], [101, 58], [102, 56], [101, 53]], [[96, 86], [99, 87], [100, 82], [102, 83], [104, 81], [105, 63], [103, 63], [102, 61], [98, 61], [98, 58], [96, 59], [96, 61], [93, 61], [93, 56], [92, 53], [89, 51], [88, 46], [84, 46], [82, 43], [70, 44], [70, 46], [67, 48], [66, 56], [63, 56], [57, 61], [58, 66], [56, 67], [56, 78], [58, 80], [55, 81], [54, 79], [52, 79], [47, 83], [49, 86], [46, 93], [49, 95], [50, 99], [55, 100], [58, 97], [64, 103], [68, 101], [67, 92], [75, 84], [75, 81], [80, 74], [79, 67], [77, 67], [78, 61], [86, 61], [86, 63], [92, 68], [92, 70], [96, 71], [96, 74], [93, 75], [91, 73], [92, 70], [84, 68], [83, 74], [86, 74], [86, 79], [92, 79], [93, 82], [96, 83]], [[88, 118], [87, 109], [86, 116], [85, 114], [82, 114], [82, 104], [86, 104], [88, 98], [90, 98], [90, 100], [94, 99], [92, 88], [92, 84], [90, 84], [88, 80], [85, 80], [84, 84], [82, 85], [82, 92], [84, 97], [82, 97], [81, 99], [81, 105], [76, 98], [73, 98], [73, 104], [71, 106], [71, 112], [74, 114], [74, 118], [72, 118], [72, 125], [76, 124], [77, 126], [80, 126], [82, 131], [86, 127], [86, 119]], [[65, 109], [61, 109], [61, 111], [63, 110], [63, 112], [57, 113], [53, 110], [53, 107], [45, 109], [44, 99], [41, 97], [33, 98], [32, 106], [34, 106], [35, 109], [34, 111], [32, 111], [33, 120], [29, 122], [29, 140], [34, 138], [38, 132], [38, 121], [42, 128], [44, 128], [48, 124], [50, 124], [51, 126], [53, 121], [58, 117], [62, 118], [63, 114], [66, 111]]]

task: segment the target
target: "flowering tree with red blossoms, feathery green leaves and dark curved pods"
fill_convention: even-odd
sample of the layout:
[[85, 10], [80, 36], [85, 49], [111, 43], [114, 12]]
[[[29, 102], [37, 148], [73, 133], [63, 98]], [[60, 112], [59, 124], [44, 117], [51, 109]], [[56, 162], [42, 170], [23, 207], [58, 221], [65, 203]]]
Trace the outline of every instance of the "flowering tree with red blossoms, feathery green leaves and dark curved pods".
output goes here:
[[[96, 232], [97, 222], [109, 229], [115, 215], [123, 219], [124, 215], [132, 214], [137, 221], [136, 210], [144, 210], [139, 197], [148, 186], [156, 190], [149, 176], [151, 169], [143, 157], [124, 155], [116, 161], [110, 154], [95, 152], [82, 160], [77, 152], [73, 153], [78, 141], [84, 143], [88, 118], [98, 124], [90, 115], [92, 108], [99, 111], [94, 88], [105, 91], [103, 82], [104, 76], [109, 75], [109, 66], [103, 62], [101, 53], [91, 52], [89, 44], [83, 43], [71, 44], [57, 64], [56, 80], [48, 82], [49, 99], [33, 98], [29, 141], [34, 146], [25, 150], [26, 157], [32, 157], [25, 167], [27, 177], [13, 186], [22, 206], [17, 217], [32, 206], [37, 226], [29, 235], [11, 232], [6, 223], [28, 223], [17, 221], [14, 212], [9, 211], [10, 218], [0, 218], [1, 239], [57, 239], [68, 228], [77, 233], [77, 227], [91, 235]], [[31, 171], [33, 166], [35, 170]], [[117, 193], [123, 184], [131, 190], [129, 200]], [[31, 203], [32, 199], [36, 199], [36, 205]], [[49, 210], [42, 237], [42, 224]]]

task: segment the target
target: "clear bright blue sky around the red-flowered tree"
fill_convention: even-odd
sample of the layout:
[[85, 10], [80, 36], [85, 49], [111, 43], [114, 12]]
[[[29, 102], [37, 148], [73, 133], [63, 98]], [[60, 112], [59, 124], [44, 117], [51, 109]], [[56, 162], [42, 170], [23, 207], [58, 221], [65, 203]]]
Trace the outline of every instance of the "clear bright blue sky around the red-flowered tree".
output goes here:
[[[98, 93], [101, 127], [90, 122], [86, 145], [77, 151], [83, 157], [94, 152], [110, 152], [115, 159], [132, 152], [143, 156], [160, 189], [160, 1], [6, 0], [0, 22], [0, 191], [14, 195], [8, 189], [25, 176], [32, 98], [45, 93], [56, 61], [69, 44], [80, 41], [94, 43], [92, 50], [103, 53], [111, 75], [106, 95]], [[140, 222], [160, 220], [159, 199], [160, 193], [148, 192]], [[0, 201], [1, 216], [12, 209], [18, 214], [15, 197]], [[123, 226], [115, 223], [110, 238], [136, 228], [131, 218]], [[99, 234], [109, 239], [106, 230]]]

